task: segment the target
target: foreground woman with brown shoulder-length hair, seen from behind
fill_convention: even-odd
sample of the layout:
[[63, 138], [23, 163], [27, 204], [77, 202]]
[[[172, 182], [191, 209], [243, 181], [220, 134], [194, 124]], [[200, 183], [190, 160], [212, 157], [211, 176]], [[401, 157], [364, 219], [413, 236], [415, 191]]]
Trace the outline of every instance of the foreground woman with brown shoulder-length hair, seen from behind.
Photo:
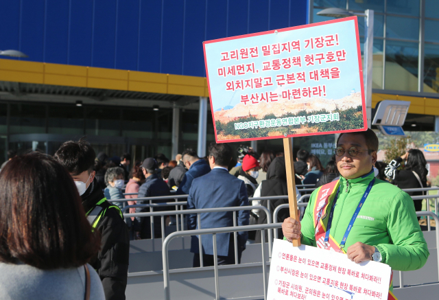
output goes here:
[[0, 173], [0, 207], [1, 299], [105, 299], [88, 264], [100, 238], [60, 163], [38, 153], [12, 159]]

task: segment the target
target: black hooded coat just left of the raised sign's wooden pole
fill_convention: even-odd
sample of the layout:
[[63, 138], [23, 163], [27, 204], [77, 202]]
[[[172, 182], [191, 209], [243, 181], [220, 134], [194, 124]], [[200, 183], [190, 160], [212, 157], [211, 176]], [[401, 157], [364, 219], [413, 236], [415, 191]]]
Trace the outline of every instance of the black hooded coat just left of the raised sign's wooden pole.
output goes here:
[[[306, 165], [306, 164], [305, 164]], [[283, 196], [288, 194], [287, 188], [287, 170], [285, 168], [285, 157], [276, 157], [267, 170], [267, 180], [261, 183], [261, 197], [263, 196]], [[262, 200], [261, 205], [268, 208], [270, 205], [271, 211], [274, 211], [279, 205], [288, 203], [288, 199], [279, 200]], [[277, 215], [277, 220], [273, 222], [283, 222], [285, 218], [289, 217], [289, 210], [282, 209]], [[267, 216], [265, 211], [259, 211], [258, 224], [267, 224]], [[283, 238], [282, 230], [278, 229], [279, 238]], [[268, 233], [265, 230], [265, 240], [268, 240]], [[258, 231], [255, 242], [261, 242], [261, 231]]]

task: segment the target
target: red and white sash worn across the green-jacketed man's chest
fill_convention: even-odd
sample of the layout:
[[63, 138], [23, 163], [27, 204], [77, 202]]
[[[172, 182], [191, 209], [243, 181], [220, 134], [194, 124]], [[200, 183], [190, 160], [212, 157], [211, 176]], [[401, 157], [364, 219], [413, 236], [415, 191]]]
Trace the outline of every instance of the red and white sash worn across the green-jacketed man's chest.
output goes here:
[[[324, 244], [324, 236], [327, 232], [327, 227], [323, 223], [322, 219], [326, 218], [329, 215], [329, 211], [331, 210], [331, 205], [333, 203], [335, 195], [337, 194], [337, 189], [339, 185], [340, 181], [333, 181], [318, 188], [316, 200], [314, 201], [313, 207], [313, 221], [314, 227], [316, 229], [315, 235], [317, 247], [320, 249], [343, 252], [346, 254], [346, 251], [344, 251], [344, 249], [340, 249], [340, 244], [337, 243], [337, 241], [332, 237], [331, 234], [329, 234], [328, 244]], [[390, 287], [392, 286], [392, 284], [393, 271], [392, 275], [390, 275]], [[388, 300], [398, 300], [390, 290]]]

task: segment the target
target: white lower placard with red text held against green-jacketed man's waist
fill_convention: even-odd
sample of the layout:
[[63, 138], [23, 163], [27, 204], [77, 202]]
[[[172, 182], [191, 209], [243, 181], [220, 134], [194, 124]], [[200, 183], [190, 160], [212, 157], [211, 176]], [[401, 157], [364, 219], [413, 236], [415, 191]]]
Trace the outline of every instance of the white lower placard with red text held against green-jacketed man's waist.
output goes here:
[[274, 240], [268, 296], [281, 299], [388, 299], [387, 264], [355, 264], [346, 254]]

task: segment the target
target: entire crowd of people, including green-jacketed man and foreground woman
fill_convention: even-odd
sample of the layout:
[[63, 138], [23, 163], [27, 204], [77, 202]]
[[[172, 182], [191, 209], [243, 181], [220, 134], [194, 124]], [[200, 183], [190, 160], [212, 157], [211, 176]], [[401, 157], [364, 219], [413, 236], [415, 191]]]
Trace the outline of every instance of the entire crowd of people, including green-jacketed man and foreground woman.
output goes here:
[[[421, 209], [420, 201], [410, 198], [422, 192], [412, 192], [409, 196], [398, 187], [428, 186], [425, 158], [422, 152], [412, 149], [386, 165], [377, 162], [377, 150], [378, 139], [372, 130], [340, 135], [333, 157], [325, 167], [316, 155], [298, 150], [294, 162], [295, 183], [317, 189], [309, 198], [311, 205], [301, 223], [289, 218], [287, 209], [273, 220], [283, 222], [278, 231], [281, 238], [300, 239], [312, 246], [327, 245], [327, 240], [319, 240], [323, 239], [323, 235], [318, 235], [322, 228], [315, 219], [316, 216], [327, 219], [329, 214], [317, 214], [313, 203], [320, 197], [323, 185], [340, 184], [334, 194], [337, 205], [333, 200], [332, 207], [337, 218], [333, 227], [341, 228], [331, 231], [335, 240], [342, 240], [351, 210], [361, 195], [367, 197], [368, 214], [374, 215], [369, 218], [377, 220], [373, 225], [363, 224], [367, 218], [354, 220], [361, 222], [361, 229], [354, 225], [350, 237], [355, 238], [344, 240], [349, 258], [355, 262], [375, 260], [374, 253], [379, 253], [381, 260], [377, 261], [390, 264], [395, 270], [423, 266], [428, 251], [415, 214], [415, 209]], [[3, 163], [0, 172], [0, 276], [3, 277], [0, 295], [9, 295], [6, 299], [29, 299], [37, 290], [41, 292], [38, 299], [60, 294], [69, 295], [64, 299], [79, 299], [87, 292], [91, 299], [125, 299], [130, 240], [161, 238], [161, 218], [153, 217], [156, 226], [151, 232], [149, 218], [124, 219], [122, 210], [126, 201], [114, 200], [130, 199], [128, 205], [149, 204], [143, 198], [175, 193], [188, 195], [185, 209], [262, 205], [270, 211], [288, 203], [287, 199], [258, 199], [287, 195], [285, 157], [271, 150], [259, 155], [252, 148], [240, 146], [235, 153], [227, 143], [212, 143], [206, 157], [198, 157], [195, 150], [187, 149], [175, 160], [157, 154], [143, 161], [132, 161], [129, 153], [112, 158], [103, 152], [95, 155], [91, 145], [82, 139], [63, 143], [54, 157], [38, 152], [8, 155], [10, 159]], [[401, 164], [405, 165], [402, 170]], [[386, 181], [392, 181], [396, 187]], [[296, 189], [298, 198], [304, 192]], [[388, 200], [383, 200], [384, 196]], [[249, 201], [250, 197], [256, 199]], [[349, 198], [356, 200], [348, 202]], [[163, 202], [169, 199], [154, 201]], [[175, 207], [154, 207], [154, 211], [171, 210]], [[129, 209], [130, 213], [143, 211], [150, 209]], [[188, 230], [231, 227], [234, 221], [237, 226], [267, 222], [265, 212], [256, 207], [237, 211], [236, 216], [237, 220], [233, 220], [232, 211], [201, 214], [200, 218], [189, 214], [185, 222]], [[169, 212], [166, 225], [175, 222], [175, 216]], [[372, 227], [375, 229], [368, 229]], [[246, 245], [254, 242], [261, 242], [260, 231], [237, 234], [238, 262]], [[212, 266], [211, 235], [202, 235], [201, 244], [203, 265]], [[343, 246], [340, 249], [344, 251]], [[231, 233], [217, 234], [218, 264], [235, 263], [234, 247]], [[194, 267], [200, 266], [199, 249], [198, 235], [194, 235], [191, 240]], [[28, 283], [26, 289], [20, 287], [23, 280]], [[50, 282], [56, 289], [43, 288], [40, 282]]]

